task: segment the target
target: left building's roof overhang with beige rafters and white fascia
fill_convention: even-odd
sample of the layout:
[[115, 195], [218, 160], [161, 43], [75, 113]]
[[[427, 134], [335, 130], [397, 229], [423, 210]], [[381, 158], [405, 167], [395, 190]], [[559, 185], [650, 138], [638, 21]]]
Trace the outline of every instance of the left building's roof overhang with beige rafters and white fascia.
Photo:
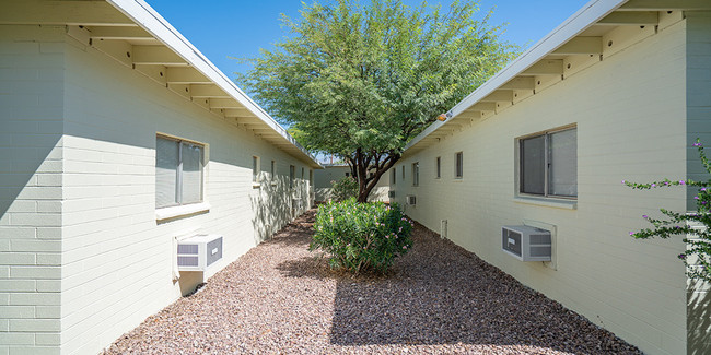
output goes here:
[[323, 166], [143, 0], [3, 0], [0, 24], [67, 26], [68, 35], [311, 167]]

